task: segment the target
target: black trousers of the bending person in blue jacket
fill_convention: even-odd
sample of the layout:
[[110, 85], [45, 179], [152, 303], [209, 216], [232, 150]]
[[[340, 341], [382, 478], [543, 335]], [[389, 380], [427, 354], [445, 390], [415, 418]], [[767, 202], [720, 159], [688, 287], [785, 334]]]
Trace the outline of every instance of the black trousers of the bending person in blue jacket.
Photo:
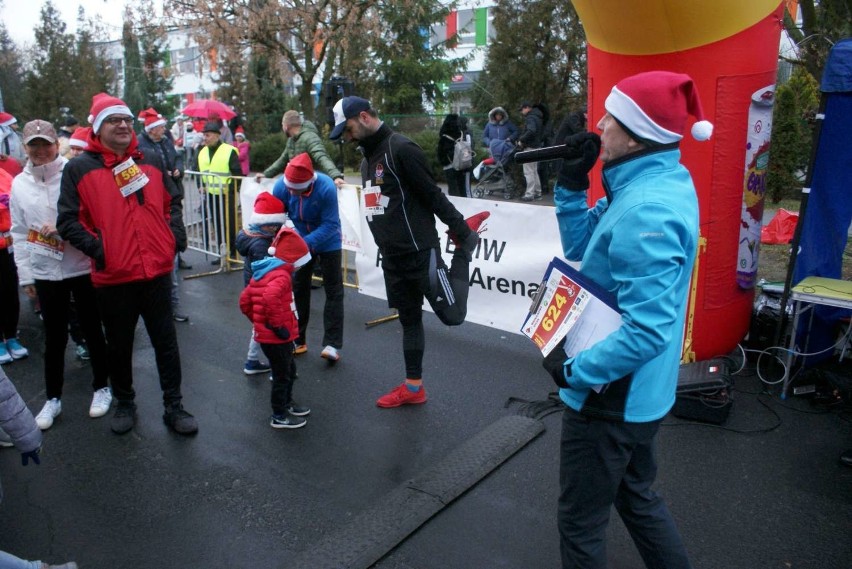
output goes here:
[[317, 253], [293, 275], [293, 296], [299, 314], [299, 339], [297, 344], [307, 344], [308, 322], [311, 318], [311, 277], [319, 261], [322, 287], [325, 290], [323, 308], [323, 346], [343, 347], [343, 268], [342, 251]]

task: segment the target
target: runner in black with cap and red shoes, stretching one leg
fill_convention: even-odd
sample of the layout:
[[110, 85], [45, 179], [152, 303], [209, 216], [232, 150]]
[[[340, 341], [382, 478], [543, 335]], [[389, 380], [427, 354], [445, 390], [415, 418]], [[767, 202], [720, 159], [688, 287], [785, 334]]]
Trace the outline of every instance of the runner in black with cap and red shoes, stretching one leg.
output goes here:
[[[379, 398], [379, 407], [426, 402], [422, 386], [423, 298], [444, 324], [458, 326], [467, 314], [471, 255], [479, 242], [483, 212], [465, 220], [435, 181], [423, 150], [393, 132], [370, 102], [345, 97], [334, 106], [331, 139], [360, 143], [361, 180], [370, 231], [382, 257], [388, 305], [399, 311], [406, 380]], [[441, 258], [435, 216], [457, 245], [449, 270]]]

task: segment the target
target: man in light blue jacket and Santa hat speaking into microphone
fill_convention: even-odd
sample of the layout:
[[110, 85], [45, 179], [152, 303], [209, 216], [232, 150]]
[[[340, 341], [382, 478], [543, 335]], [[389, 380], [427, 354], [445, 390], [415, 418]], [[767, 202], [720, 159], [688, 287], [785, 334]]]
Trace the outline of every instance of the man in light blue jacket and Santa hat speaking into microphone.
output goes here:
[[[621, 327], [567, 357], [544, 360], [566, 405], [558, 525], [563, 567], [607, 566], [606, 526], [616, 510], [645, 565], [690, 567], [656, 477], [655, 439], [675, 400], [689, 283], [698, 247], [698, 198], [680, 163], [688, 115], [706, 140], [688, 75], [653, 71], [620, 81], [601, 131], [569, 137], [554, 198], [562, 247], [580, 271], [616, 295]], [[605, 197], [587, 208], [588, 172], [600, 152]]]

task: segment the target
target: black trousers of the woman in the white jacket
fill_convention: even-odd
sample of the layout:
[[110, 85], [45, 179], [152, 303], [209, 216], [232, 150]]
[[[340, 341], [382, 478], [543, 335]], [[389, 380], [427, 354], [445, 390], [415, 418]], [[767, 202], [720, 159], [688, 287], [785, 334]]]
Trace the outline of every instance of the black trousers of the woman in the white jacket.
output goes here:
[[98, 312], [97, 296], [89, 275], [62, 281], [35, 281], [41, 317], [44, 320], [44, 383], [48, 399], [61, 399], [65, 383], [65, 348], [68, 345], [68, 323], [71, 295], [77, 305], [77, 322], [89, 348], [92, 363], [92, 389], [106, 387], [109, 362], [106, 342]]

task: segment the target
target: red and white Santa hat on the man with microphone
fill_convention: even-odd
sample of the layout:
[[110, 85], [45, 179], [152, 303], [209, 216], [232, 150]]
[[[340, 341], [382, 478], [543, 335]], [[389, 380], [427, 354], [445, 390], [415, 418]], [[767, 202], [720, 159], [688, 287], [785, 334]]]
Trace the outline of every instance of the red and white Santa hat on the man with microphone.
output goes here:
[[661, 144], [683, 138], [688, 115], [695, 140], [707, 140], [713, 125], [704, 120], [692, 77], [669, 71], [648, 71], [622, 79], [612, 88], [604, 107], [630, 134]]

